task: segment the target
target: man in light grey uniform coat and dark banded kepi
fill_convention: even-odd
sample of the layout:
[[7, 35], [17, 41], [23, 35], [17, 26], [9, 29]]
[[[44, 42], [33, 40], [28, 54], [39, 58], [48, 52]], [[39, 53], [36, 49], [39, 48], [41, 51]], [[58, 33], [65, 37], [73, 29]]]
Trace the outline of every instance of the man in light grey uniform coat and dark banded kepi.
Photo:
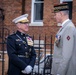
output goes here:
[[55, 36], [51, 74], [73, 75], [68, 73], [68, 69], [69, 62], [73, 55], [75, 26], [69, 19], [68, 4], [62, 3], [55, 5], [54, 12], [54, 18], [56, 19], [57, 23], [61, 23], [62, 27], [59, 29]]

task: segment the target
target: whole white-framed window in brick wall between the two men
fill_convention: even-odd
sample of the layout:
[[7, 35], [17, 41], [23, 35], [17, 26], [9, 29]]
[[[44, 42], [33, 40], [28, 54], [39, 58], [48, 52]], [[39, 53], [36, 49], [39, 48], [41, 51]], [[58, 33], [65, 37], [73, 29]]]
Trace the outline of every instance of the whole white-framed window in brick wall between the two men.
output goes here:
[[32, 0], [31, 23], [37, 26], [43, 23], [43, 5], [44, 0]]

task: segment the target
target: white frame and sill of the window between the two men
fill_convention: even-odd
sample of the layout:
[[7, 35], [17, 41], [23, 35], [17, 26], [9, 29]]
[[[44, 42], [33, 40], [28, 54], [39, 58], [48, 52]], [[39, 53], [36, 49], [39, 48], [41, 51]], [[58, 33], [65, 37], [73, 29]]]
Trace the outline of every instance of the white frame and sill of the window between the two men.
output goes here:
[[34, 22], [34, 3], [35, 3], [35, 0], [32, 0], [32, 6], [31, 6], [32, 7], [31, 8], [31, 23], [30, 23], [30, 26], [43, 26], [43, 21], [42, 22]]

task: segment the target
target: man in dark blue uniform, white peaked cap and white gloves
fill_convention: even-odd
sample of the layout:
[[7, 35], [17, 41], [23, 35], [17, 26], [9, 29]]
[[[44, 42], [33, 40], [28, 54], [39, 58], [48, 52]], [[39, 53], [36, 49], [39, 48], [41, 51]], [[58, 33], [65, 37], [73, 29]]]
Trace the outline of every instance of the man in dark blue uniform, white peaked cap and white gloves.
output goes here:
[[7, 38], [7, 52], [9, 57], [8, 75], [31, 75], [35, 64], [36, 52], [32, 38], [28, 31], [28, 14], [13, 20], [17, 26], [16, 33]]

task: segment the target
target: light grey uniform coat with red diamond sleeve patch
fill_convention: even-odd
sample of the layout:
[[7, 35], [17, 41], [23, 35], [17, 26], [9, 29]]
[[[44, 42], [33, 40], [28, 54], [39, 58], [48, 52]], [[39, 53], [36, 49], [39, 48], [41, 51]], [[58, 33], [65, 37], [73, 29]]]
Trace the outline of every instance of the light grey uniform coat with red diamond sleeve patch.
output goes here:
[[67, 70], [69, 68], [69, 61], [73, 54], [74, 30], [75, 26], [71, 20], [69, 20], [56, 35], [51, 71], [54, 75], [73, 75], [68, 74]]

